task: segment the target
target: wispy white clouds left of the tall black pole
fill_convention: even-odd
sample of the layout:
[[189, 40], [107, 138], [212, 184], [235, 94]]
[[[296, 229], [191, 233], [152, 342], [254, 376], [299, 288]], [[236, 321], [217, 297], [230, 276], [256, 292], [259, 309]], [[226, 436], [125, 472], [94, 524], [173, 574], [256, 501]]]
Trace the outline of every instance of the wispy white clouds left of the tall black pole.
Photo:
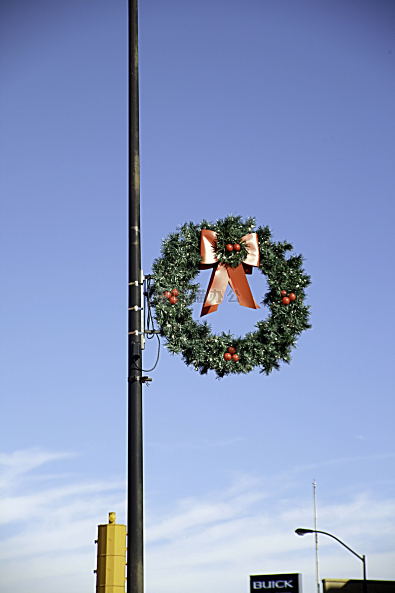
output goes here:
[[0, 571], [7, 593], [53, 591], [51, 575], [59, 593], [94, 590], [97, 525], [109, 511], [124, 518], [125, 483], [40, 476], [45, 464], [74, 455], [41, 449], [0, 455]]

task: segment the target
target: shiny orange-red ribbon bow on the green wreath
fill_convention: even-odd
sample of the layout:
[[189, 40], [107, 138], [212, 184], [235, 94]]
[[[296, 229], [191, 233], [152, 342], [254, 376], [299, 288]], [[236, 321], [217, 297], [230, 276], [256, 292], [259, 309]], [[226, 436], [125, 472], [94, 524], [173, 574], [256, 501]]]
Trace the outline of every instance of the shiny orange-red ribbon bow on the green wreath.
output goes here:
[[[203, 261], [200, 264], [201, 270], [213, 267], [210, 282], [208, 283], [205, 294], [203, 308], [200, 317], [217, 311], [218, 306], [223, 301], [228, 283], [237, 297], [239, 305], [250, 307], [251, 309], [260, 309], [252, 296], [251, 289], [246, 278], [246, 274], [252, 274], [252, 267], [259, 266], [259, 245], [256, 232], [251, 232], [242, 237], [248, 249], [248, 256], [244, 262], [237, 267], [230, 267], [220, 263], [216, 257], [217, 233], [202, 229], [200, 240], [200, 253]], [[215, 304], [212, 304], [214, 303]]]

